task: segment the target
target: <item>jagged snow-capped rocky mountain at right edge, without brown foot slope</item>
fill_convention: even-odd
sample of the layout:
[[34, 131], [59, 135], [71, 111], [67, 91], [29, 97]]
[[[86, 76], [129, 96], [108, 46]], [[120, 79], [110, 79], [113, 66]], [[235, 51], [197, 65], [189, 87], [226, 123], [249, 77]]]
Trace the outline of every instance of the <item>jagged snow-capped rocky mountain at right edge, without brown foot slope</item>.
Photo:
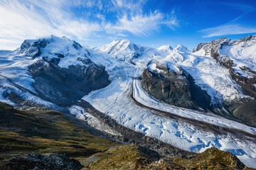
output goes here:
[[193, 52], [215, 58], [229, 69], [230, 75], [248, 95], [256, 97], [256, 35], [240, 40], [220, 38], [200, 43]]

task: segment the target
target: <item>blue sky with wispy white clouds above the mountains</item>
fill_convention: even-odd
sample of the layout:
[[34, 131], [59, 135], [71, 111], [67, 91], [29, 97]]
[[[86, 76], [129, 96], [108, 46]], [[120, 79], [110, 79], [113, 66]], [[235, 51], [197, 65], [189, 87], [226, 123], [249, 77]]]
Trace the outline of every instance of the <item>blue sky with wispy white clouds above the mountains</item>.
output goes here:
[[0, 50], [25, 39], [66, 36], [100, 47], [183, 45], [256, 34], [255, 0], [0, 0]]

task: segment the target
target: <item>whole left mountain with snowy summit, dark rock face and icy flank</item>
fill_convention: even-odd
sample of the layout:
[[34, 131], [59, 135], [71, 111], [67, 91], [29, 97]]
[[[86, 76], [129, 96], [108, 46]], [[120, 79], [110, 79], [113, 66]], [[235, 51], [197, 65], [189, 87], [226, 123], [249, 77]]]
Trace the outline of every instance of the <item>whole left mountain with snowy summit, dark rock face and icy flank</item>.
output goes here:
[[65, 106], [110, 84], [105, 67], [90, 57], [85, 47], [68, 38], [24, 40], [13, 56], [18, 60], [9, 58], [12, 61], [0, 67], [1, 96], [23, 106], [23, 100], [49, 108], [54, 103], [55, 109]]

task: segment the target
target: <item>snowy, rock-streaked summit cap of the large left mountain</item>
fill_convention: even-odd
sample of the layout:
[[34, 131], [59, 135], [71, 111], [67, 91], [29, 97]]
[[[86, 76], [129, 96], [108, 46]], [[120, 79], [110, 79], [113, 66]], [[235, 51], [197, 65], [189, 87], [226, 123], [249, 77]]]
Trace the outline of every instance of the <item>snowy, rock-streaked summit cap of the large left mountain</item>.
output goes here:
[[24, 40], [21, 45], [21, 55], [28, 57], [43, 57], [46, 60], [57, 58], [58, 66], [68, 68], [70, 65], [83, 65], [90, 62], [90, 52], [78, 42], [63, 37], [51, 35], [50, 38], [39, 40]]

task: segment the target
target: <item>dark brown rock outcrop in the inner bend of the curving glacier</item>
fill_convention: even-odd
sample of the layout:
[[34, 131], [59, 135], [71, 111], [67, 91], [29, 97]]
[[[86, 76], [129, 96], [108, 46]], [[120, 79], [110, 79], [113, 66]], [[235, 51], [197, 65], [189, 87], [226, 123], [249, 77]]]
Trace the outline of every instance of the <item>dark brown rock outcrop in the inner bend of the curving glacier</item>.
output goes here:
[[[152, 61], [149, 64], [152, 64]], [[183, 108], [211, 109], [210, 96], [195, 84], [188, 72], [181, 67], [178, 67], [179, 71], [176, 72], [157, 62], [156, 69], [160, 71], [145, 69], [142, 73], [142, 87], [151, 96]]]

